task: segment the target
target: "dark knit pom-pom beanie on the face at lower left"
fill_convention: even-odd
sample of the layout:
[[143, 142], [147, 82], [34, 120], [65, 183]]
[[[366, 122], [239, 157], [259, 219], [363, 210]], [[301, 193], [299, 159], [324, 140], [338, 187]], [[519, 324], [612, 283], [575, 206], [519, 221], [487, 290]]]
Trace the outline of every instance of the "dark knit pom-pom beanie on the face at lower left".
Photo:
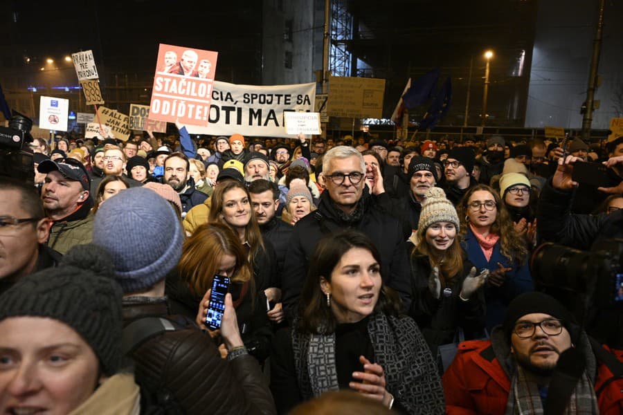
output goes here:
[[123, 292], [110, 257], [93, 245], [75, 246], [56, 268], [19, 279], [0, 296], [0, 321], [49, 317], [67, 324], [89, 344], [106, 376], [121, 366]]

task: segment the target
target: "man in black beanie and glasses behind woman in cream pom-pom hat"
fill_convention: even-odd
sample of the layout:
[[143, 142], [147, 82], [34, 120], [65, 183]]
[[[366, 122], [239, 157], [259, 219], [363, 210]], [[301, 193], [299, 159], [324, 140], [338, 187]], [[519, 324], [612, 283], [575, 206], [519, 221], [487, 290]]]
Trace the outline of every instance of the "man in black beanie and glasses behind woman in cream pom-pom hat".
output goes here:
[[454, 147], [443, 162], [446, 180], [441, 187], [455, 206], [471, 187], [478, 184], [471, 176], [475, 162], [476, 154], [469, 147]]

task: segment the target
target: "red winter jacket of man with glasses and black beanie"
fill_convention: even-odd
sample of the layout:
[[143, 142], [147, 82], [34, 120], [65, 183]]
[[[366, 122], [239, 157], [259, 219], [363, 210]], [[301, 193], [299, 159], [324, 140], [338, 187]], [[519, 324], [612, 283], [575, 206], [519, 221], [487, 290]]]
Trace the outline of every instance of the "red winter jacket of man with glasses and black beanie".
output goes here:
[[[623, 362], [623, 351], [610, 350]], [[597, 360], [595, 391], [613, 377]], [[453, 414], [501, 415], [506, 410], [510, 380], [494, 355], [491, 341], [471, 340], [459, 344], [458, 353], [442, 378], [446, 412]], [[623, 378], [609, 382], [597, 395], [599, 413], [623, 414]]]

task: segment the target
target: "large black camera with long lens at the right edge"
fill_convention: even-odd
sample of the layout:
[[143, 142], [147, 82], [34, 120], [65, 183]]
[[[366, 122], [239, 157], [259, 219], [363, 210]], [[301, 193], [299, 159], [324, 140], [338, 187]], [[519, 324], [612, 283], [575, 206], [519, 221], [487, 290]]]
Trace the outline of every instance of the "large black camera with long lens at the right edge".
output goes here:
[[537, 290], [559, 299], [586, 331], [623, 344], [623, 239], [604, 239], [589, 251], [543, 243], [530, 263]]

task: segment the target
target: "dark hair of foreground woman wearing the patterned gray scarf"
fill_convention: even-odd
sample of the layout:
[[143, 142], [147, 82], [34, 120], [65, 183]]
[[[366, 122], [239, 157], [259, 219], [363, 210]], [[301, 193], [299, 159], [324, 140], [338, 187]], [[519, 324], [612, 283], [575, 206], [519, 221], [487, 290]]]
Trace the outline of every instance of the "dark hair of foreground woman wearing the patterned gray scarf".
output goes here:
[[[323, 291], [320, 290], [320, 277], [331, 282], [334, 268], [343, 255], [352, 248], [368, 250], [379, 265], [381, 264], [381, 255], [377, 247], [370, 238], [359, 231], [341, 230], [320, 239], [309, 260], [309, 273], [300, 295], [298, 331], [313, 334], [330, 334], [335, 331], [338, 323], [331, 308], [327, 307]], [[397, 316], [400, 309], [397, 294], [381, 282], [381, 291], [374, 312]]]

